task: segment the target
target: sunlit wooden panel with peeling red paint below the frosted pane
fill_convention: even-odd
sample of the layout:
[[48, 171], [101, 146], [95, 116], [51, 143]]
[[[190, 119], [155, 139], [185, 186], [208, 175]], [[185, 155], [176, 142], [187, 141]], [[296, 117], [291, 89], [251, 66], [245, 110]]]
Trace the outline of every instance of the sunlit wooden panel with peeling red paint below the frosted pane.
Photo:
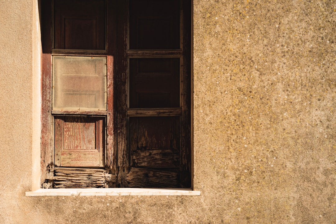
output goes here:
[[104, 166], [104, 118], [55, 116], [55, 164]]

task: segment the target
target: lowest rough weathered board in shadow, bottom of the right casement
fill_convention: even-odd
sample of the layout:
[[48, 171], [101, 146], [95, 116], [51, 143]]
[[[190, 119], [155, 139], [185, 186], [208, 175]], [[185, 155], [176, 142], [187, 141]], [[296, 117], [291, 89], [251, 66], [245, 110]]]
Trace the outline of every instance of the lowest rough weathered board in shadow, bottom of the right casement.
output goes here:
[[128, 187], [179, 187], [175, 170], [156, 170], [131, 167], [125, 175]]

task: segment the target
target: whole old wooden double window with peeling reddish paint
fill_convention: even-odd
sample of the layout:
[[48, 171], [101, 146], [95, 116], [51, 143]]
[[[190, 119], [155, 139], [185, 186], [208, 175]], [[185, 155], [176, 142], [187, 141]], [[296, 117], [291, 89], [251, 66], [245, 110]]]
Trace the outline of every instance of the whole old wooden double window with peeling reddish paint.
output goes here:
[[191, 187], [191, 3], [43, 2], [43, 188]]

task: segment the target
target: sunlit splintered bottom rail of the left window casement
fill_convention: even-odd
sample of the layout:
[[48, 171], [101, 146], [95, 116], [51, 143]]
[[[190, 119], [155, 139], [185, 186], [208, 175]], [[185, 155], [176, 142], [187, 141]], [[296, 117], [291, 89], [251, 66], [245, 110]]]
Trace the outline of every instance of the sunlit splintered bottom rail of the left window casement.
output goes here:
[[47, 178], [54, 181], [55, 188], [106, 188], [115, 182], [116, 175], [103, 169], [62, 168], [54, 169], [55, 175]]

